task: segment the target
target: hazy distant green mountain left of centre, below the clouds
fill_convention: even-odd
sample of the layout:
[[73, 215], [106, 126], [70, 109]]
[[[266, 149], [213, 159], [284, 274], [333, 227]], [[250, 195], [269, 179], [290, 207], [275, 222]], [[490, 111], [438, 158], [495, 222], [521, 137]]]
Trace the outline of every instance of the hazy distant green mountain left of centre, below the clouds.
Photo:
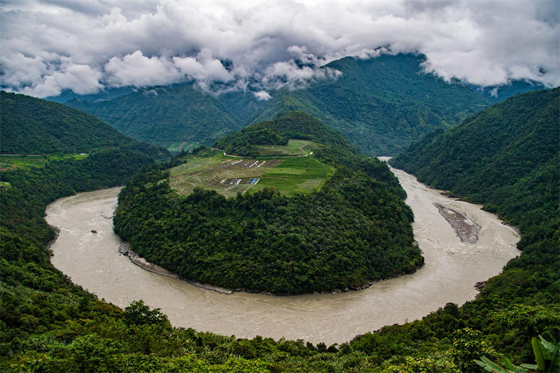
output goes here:
[[223, 104], [193, 84], [139, 89], [112, 100], [67, 105], [92, 113], [134, 139], [169, 146], [190, 141], [210, 145], [243, 124]]

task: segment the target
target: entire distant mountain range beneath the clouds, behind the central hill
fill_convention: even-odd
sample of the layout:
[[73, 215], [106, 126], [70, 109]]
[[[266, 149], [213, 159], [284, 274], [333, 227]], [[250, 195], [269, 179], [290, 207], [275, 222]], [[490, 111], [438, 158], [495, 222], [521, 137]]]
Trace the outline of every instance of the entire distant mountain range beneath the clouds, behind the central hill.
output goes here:
[[251, 91], [217, 96], [193, 83], [132, 89], [113, 88], [97, 95], [68, 92], [65, 101], [102, 118], [119, 131], [160, 146], [211, 145], [226, 134], [291, 111], [314, 115], [346, 136], [368, 155], [393, 155], [437, 128], [450, 128], [496, 100], [538, 89], [514, 82], [489, 87], [447, 83], [424, 73], [423, 55], [346, 57], [324, 69], [342, 72], [336, 80], [318, 80], [297, 90], [283, 87], [259, 100]]

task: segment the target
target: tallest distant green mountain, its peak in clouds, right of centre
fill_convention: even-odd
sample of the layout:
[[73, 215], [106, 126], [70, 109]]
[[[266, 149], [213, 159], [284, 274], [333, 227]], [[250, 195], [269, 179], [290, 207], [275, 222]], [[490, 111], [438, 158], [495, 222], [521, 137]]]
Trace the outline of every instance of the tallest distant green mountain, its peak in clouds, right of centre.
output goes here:
[[336, 129], [365, 154], [391, 155], [488, 105], [472, 90], [422, 72], [423, 55], [346, 57], [327, 64], [342, 76], [274, 92], [255, 121], [299, 110]]

